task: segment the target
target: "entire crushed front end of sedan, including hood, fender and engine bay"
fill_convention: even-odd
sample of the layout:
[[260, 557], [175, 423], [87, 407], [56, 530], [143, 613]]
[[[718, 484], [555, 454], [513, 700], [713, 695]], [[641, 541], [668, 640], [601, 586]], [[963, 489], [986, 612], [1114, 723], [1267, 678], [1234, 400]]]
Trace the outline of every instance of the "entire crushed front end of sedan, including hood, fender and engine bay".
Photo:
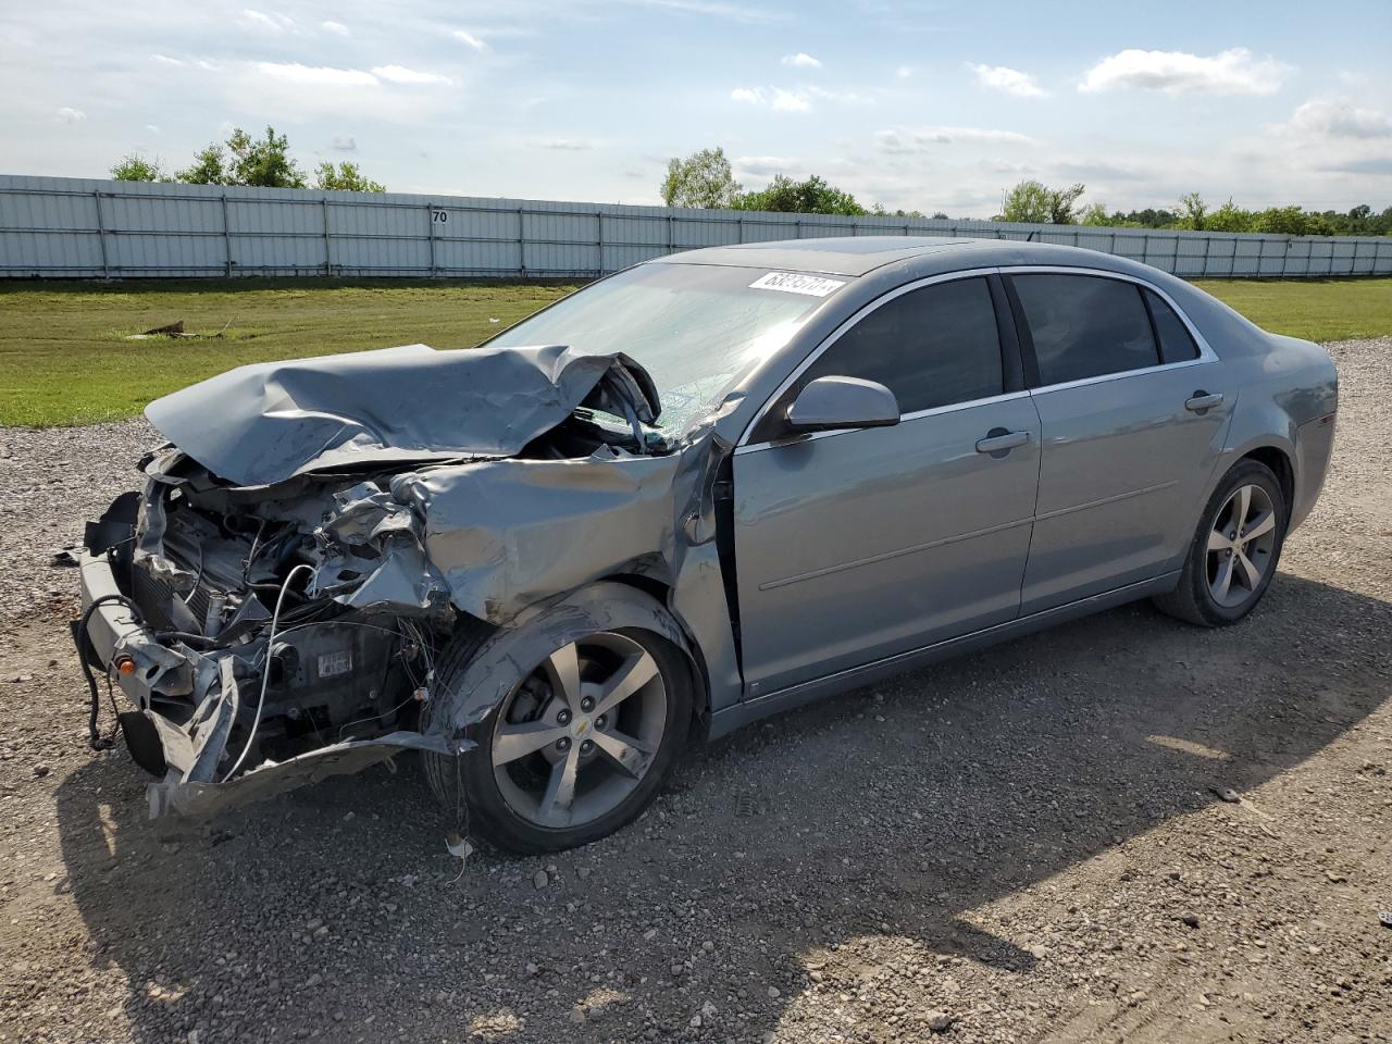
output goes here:
[[461, 626], [505, 628], [615, 568], [664, 569], [689, 497], [674, 514], [658, 409], [624, 356], [423, 345], [242, 367], [152, 404], [170, 444], [139, 464], [142, 493], [89, 523], [75, 628], [85, 663], [136, 703], [121, 724], [160, 777], [152, 814], [468, 749], [487, 707], [436, 674]]

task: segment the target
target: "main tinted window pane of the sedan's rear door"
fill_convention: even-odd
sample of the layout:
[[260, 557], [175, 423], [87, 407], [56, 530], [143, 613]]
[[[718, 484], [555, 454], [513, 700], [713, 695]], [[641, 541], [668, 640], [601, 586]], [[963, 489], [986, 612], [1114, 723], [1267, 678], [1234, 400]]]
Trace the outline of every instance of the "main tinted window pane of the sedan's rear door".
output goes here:
[[1100, 276], [1013, 276], [1043, 384], [1160, 363], [1150, 316], [1133, 283]]

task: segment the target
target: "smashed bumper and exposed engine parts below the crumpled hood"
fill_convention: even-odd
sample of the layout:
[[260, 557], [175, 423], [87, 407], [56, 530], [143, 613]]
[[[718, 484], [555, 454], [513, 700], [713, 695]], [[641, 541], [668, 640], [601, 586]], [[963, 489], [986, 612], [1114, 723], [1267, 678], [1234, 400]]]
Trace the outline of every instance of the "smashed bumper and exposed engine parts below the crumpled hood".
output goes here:
[[88, 528], [78, 638], [138, 707], [122, 727], [160, 777], [152, 814], [461, 752], [420, 729], [455, 612], [391, 476], [230, 487], [173, 448], [143, 470]]

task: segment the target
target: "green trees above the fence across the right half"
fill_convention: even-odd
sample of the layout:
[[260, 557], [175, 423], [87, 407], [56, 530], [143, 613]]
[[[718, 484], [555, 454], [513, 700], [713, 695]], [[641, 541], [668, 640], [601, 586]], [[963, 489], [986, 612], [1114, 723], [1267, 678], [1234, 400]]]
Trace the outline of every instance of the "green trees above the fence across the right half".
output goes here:
[[[1276, 232], [1285, 235], [1392, 235], [1392, 206], [1375, 213], [1360, 205], [1347, 213], [1304, 210], [1299, 206], [1274, 206], [1244, 210], [1232, 199], [1211, 207], [1197, 192], [1182, 196], [1175, 209], [1112, 210], [1102, 203], [1083, 205], [1083, 184], [1051, 188], [1041, 181], [1019, 182], [1001, 199], [994, 221], [1030, 224], [1083, 224], [1111, 228], [1183, 228], [1211, 232]], [[844, 214], [852, 217], [888, 216], [923, 217], [919, 210], [894, 210], [863, 206], [853, 195], [827, 184], [817, 175], [793, 181], [784, 174], [774, 177], [764, 189], [746, 192], [735, 180], [722, 149], [702, 149], [686, 159], [671, 159], [661, 185], [667, 206], [728, 210], [774, 210], [799, 214]], [[947, 219], [942, 212], [935, 219]]]

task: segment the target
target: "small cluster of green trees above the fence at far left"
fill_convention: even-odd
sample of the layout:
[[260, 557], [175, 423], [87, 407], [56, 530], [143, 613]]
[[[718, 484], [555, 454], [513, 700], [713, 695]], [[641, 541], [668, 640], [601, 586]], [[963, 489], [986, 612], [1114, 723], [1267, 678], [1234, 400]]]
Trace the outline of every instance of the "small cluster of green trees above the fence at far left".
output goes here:
[[252, 185], [256, 188], [319, 188], [347, 192], [386, 192], [387, 187], [367, 178], [356, 163], [329, 161], [315, 167], [313, 184], [290, 155], [290, 139], [266, 128], [264, 138], [252, 138], [241, 127], [226, 142], [212, 142], [193, 153], [184, 170], [167, 171], [159, 157], [138, 153], [111, 167], [117, 181], [164, 181], [185, 185]]

